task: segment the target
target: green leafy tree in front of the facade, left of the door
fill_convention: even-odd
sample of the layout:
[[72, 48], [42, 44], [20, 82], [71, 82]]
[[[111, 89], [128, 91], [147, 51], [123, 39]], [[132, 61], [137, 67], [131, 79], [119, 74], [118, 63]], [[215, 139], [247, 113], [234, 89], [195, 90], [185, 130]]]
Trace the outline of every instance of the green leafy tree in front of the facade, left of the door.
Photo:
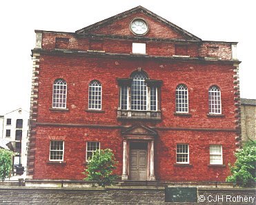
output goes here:
[[92, 181], [92, 186], [110, 186], [115, 183], [117, 175], [112, 174], [116, 169], [117, 161], [111, 149], [95, 151], [92, 158], [89, 158], [87, 169], [83, 172], [86, 175], [84, 180]]

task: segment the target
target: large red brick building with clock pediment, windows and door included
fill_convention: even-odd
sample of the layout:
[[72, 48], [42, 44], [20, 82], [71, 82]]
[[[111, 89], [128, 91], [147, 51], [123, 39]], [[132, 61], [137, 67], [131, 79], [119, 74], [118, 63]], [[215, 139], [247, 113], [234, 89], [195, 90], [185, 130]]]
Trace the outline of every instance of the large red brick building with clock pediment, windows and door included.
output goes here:
[[122, 180], [225, 180], [240, 143], [236, 42], [203, 41], [141, 6], [35, 32], [28, 177], [81, 180], [110, 148]]

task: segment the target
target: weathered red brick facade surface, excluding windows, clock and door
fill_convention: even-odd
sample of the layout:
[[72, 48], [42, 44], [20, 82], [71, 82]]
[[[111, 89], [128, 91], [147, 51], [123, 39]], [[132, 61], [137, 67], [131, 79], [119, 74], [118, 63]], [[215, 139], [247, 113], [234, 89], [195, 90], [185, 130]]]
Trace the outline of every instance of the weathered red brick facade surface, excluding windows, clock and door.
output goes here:
[[[129, 23], [135, 17], [150, 25], [144, 36], [130, 31]], [[113, 150], [119, 161], [115, 172], [122, 175], [124, 138], [130, 139], [122, 131], [141, 125], [157, 133], [150, 137], [155, 148], [148, 148], [153, 155], [148, 151], [147, 162], [153, 166], [148, 165], [148, 172], [155, 169], [156, 180], [225, 180], [228, 163], [234, 162], [233, 151], [241, 140], [239, 61], [231, 54], [235, 43], [201, 41], [141, 7], [111, 18], [75, 33], [36, 31], [43, 38], [41, 47], [32, 51], [38, 58], [38, 70], [33, 76], [36, 87], [32, 88], [28, 174], [35, 179], [81, 180], [86, 142], [93, 141], [100, 142], [101, 149]], [[138, 42], [146, 43], [146, 54], [132, 54], [132, 43]], [[188, 55], [175, 55], [175, 45], [186, 45]], [[119, 79], [130, 78], [135, 70], [161, 82], [158, 120], [117, 118]], [[66, 109], [52, 109], [52, 85], [58, 78], [67, 83]], [[92, 80], [99, 80], [102, 86], [99, 111], [88, 109]], [[186, 114], [175, 112], [179, 84], [188, 88]], [[208, 89], [212, 85], [221, 90], [219, 115], [208, 110]], [[149, 143], [145, 133], [145, 139], [133, 136], [135, 142]], [[49, 160], [51, 140], [65, 143], [62, 162]], [[177, 144], [189, 144], [188, 164], [176, 163]], [[223, 164], [209, 165], [210, 144], [222, 146]]]

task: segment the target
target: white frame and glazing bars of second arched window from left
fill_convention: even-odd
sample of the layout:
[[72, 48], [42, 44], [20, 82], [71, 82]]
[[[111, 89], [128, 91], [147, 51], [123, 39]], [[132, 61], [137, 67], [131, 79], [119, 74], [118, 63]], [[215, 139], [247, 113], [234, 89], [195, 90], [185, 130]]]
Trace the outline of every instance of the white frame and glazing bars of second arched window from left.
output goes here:
[[[97, 85], [95, 85], [95, 83], [97, 83]], [[100, 100], [92, 100], [92, 97], [99, 97], [99, 95], [95, 95], [96, 90], [98, 89], [97, 92], [99, 92], [99, 88], [100, 88]], [[94, 89], [94, 90], [93, 90]], [[90, 99], [91, 97], [91, 99]], [[91, 102], [90, 102], [91, 100]], [[96, 103], [96, 101], [100, 101], [100, 103]], [[88, 89], [88, 109], [90, 110], [101, 110], [102, 109], [102, 85], [99, 82], [99, 80], [92, 80], [89, 83], [89, 89]]]

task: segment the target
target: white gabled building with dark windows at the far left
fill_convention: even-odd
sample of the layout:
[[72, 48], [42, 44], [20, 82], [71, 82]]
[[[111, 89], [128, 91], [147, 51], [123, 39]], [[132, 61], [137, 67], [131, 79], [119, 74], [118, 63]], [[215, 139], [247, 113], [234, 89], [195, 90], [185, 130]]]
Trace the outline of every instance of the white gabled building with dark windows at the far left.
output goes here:
[[1, 138], [10, 142], [9, 148], [16, 153], [13, 164], [24, 167], [27, 164], [28, 119], [29, 112], [21, 108], [1, 116]]

